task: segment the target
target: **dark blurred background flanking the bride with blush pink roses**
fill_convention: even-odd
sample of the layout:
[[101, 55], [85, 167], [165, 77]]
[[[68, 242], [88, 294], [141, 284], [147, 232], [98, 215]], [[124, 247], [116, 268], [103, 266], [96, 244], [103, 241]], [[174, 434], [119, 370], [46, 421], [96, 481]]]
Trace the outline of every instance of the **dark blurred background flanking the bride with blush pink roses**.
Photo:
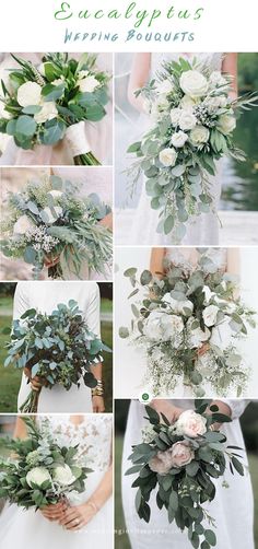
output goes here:
[[[121, 504], [121, 453], [122, 440], [127, 423], [127, 414], [130, 400], [116, 400], [115, 406], [115, 528], [116, 528], [116, 549], [130, 549], [127, 534], [125, 533], [125, 518]], [[250, 402], [241, 418], [245, 444], [248, 452], [249, 470], [251, 476], [254, 497], [255, 497], [255, 541], [258, 548], [258, 401]], [[137, 425], [136, 425], [137, 429]]]

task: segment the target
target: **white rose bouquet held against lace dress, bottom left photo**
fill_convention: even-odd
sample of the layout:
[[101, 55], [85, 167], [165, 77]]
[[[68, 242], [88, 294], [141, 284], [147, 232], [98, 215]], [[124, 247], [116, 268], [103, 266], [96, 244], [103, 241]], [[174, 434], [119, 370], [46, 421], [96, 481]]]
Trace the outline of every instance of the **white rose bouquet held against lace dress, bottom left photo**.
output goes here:
[[77, 446], [64, 446], [55, 440], [48, 420], [39, 429], [34, 420], [23, 418], [28, 439], [4, 439], [4, 448], [13, 458], [0, 460], [0, 498], [24, 509], [54, 505], [68, 501], [70, 492], [85, 490], [89, 469]]

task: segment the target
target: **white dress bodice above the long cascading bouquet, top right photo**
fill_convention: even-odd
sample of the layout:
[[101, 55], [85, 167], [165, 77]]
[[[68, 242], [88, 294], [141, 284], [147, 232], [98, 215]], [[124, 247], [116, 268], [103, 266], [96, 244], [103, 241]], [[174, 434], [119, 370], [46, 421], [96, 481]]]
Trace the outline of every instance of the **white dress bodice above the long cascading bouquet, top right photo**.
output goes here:
[[186, 57], [189, 59], [189, 61], [192, 61], [194, 59], [197, 60], [198, 63], [200, 63], [201, 67], [206, 66], [209, 67], [209, 70], [215, 71], [215, 70], [221, 70], [222, 69], [222, 61], [223, 61], [223, 54], [213, 54], [213, 52], [207, 52], [207, 54], [179, 54], [179, 52], [166, 52], [166, 54], [152, 54], [151, 56], [151, 72], [154, 75], [154, 73], [157, 70], [161, 70], [162, 63], [164, 61], [177, 61], [179, 57]]

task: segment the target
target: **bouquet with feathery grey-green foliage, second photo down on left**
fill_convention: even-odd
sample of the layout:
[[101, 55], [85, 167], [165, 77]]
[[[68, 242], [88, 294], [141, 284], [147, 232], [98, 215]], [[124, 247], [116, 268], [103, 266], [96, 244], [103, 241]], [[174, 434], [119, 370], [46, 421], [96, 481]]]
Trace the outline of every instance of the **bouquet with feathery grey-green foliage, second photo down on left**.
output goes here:
[[[110, 208], [96, 194], [80, 197], [75, 184], [50, 176], [30, 182], [21, 192], [10, 192], [0, 224], [2, 253], [33, 265], [38, 278], [46, 261], [61, 258], [80, 278], [82, 262], [89, 270], [105, 272], [112, 261], [113, 238], [99, 224]], [[48, 270], [62, 278], [61, 261]]]

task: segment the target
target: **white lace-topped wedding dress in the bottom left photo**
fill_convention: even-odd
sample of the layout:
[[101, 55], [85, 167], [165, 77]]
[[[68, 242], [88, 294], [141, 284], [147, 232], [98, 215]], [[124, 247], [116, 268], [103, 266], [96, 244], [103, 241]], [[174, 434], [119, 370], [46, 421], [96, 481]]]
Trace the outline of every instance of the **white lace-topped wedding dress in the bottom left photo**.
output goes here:
[[[96, 490], [110, 465], [110, 414], [87, 414], [74, 425], [69, 416], [48, 416], [51, 433], [59, 444], [79, 444], [85, 466], [93, 469], [85, 482], [85, 491], [70, 495], [71, 505], [85, 503]], [[39, 424], [44, 416], [37, 418]], [[68, 532], [56, 522], [34, 509], [24, 511], [16, 505], [5, 505], [0, 516], [0, 549], [112, 549], [113, 502], [112, 498], [92, 521], [79, 532]]]

